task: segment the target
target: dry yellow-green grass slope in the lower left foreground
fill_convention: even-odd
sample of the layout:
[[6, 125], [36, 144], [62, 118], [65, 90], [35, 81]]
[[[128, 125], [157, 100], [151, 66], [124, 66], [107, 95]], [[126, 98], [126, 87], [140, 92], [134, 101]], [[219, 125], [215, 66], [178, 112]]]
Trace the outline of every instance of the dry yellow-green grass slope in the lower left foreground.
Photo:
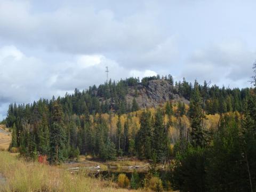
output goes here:
[[25, 162], [6, 151], [0, 151], [0, 162], [0, 173], [6, 180], [0, 191], [128, 191], [83, 172], [71, 174], [58, 166]]

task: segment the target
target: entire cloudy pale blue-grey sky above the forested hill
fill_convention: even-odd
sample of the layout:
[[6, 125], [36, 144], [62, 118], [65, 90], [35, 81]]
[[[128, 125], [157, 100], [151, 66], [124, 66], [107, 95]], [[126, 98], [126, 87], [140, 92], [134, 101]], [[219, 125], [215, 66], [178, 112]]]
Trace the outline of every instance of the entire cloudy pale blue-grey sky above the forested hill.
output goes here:
[[9, 103], [109, 78], [171, 74], [251, 87], [256, 1], [0, 0], [0, 120]]

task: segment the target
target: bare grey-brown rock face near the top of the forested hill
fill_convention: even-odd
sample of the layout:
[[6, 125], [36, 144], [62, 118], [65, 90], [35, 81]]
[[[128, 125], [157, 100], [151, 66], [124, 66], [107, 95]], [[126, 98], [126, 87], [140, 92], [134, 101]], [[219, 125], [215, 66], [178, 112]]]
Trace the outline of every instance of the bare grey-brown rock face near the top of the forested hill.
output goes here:
[[173, 86], [163, 79], [149, 81], [148, 86], [137, 85], [137, 97], [135, 94], [135, 87], [129, 87], [126, 95], [127, 103], [132, 103], [133, 98], [137, 101], [140, 108], [157, 107], [166, 101], [181, 101], [189, 103], [178, 94], [173, 94]]

